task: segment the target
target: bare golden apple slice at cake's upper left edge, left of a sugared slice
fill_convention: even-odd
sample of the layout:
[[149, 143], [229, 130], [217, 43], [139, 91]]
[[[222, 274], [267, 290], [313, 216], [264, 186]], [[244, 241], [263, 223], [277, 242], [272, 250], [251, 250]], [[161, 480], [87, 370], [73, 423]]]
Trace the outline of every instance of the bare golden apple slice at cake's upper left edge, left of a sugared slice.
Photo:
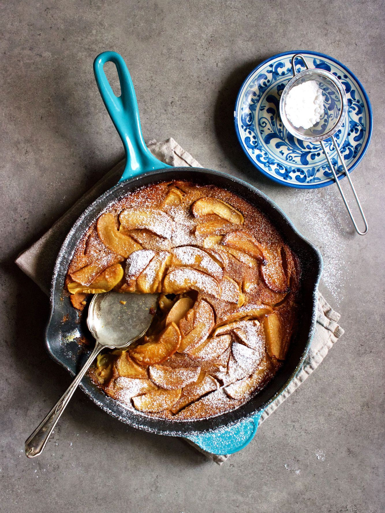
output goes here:
[[97, 234], [103, 244], [111, 251], [124, 258], [141, 248], [140, 244], [128, 235], [120, 233], [116, 227], [115, 217], [111, 213], [100, 215], [96, 224]]

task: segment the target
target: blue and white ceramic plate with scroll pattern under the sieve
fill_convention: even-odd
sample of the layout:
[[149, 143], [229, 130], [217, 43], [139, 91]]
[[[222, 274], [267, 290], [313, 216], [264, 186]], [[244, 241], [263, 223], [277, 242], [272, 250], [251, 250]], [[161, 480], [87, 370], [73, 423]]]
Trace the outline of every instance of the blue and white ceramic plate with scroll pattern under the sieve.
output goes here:
[[[293, 77], [291, 58], [301, 53], [309, 66], [330, 71], [341, 81], [348, 97], [345, 122], [335, 134], [349, 172], [368, 149], [372, 135], [372, 109], [369, 98], [355, 75], [333, 57], [323, 53], [292, 51], [279, 53], [262, 62], [246, 78], [238, 93], [234, 118], [242, 148], [256, 168], [271, 180], [297, 188], [325, 187], [334, 183], [332, 172], [320, 145], [300, 141], [283, 126], [279, 98]], [[298, 59], [297, 71], [302, 71]], [[331, 140], [325, 141], [331, 152]], [[337, 164], [333, 150], [331, 158]], [[342, 166], [338, 163], [338, 171]], [[339, 175], [339, 179], [343, 174]]]

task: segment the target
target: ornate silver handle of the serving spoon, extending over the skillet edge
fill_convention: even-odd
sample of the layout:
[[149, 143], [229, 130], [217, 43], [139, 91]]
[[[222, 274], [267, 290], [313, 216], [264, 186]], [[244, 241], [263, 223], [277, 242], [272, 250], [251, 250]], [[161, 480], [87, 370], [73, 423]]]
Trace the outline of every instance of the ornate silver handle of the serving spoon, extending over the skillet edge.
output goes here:
[[94, 350], [90, 354], [87, 362], [82, 367], [82, 370], [77, 374], [76, 378], [73, 380], [71, 385], [68, 387], [66, 392], [64, 392], [63, 396], [57, 401], [55, 406], [51, 409], [45, 419], [40, 422], [37, 428], [33, 431], [32, 435], [30, 435], [25, 443], [25, 451], [26, 456], [28, 458], [34, 458], [43, 452], [46, 443], [48, 442], [49, 437], [53, 431], [53, 428], [56, 426], [57, 421], [62, 415], [65, 407], [67, 406], [69, 400], [73, 396], [74, 391], [77, 388], [77, 385], [82, 381], [84, 374], [87, 372], [91, 363], [94, 361], [99, 352], [103, 349], [99, 343], [96, 343]]

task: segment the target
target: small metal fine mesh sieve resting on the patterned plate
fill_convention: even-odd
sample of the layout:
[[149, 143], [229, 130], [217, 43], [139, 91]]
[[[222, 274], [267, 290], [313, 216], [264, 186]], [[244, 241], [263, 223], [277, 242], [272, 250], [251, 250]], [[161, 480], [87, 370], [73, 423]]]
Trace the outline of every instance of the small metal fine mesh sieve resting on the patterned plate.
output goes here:
[[[303, 63], [306, 66], [306, 70], [300, 71], [299, 73], [295, 70], [295, 59], [299, 57], [302, 59]], [[343, 121], [345, 120], [346, 112], [347, 112], [347, 97], [345, 89], [343, 88], [342, 84], [338, 80], [336, 76], [334, 76], [329, 71], [318, 69], [318, 68], [310, 68], [308, 63], [306, 62], [305, 57], [303, 55], [297, 53], [292, 58], [292, 68], [293, 68], [293, 78], [290, 80], [290, 82], [286, 85], [285, 89], [282, 91], [282, 95], [279, 102], [279, 113], [281, 116], [281, 120], [285, 128], [297, 139], [300, 139], [301, 141], [308, 141], [311, 143], [319, 143], [322, 147], [323, 153], [325, 153], [326, 159], [328, 161], [329, 167], [333, 173], [334, 180], [337, 183], [338, 190], [342, 196], [342, 200], [345, 203], [345, 206], [349, 212], [350, 218], [353, 222], [354, 228], [356, 229], [357, 233], [360, 235], [364, 235], [368, 231], [368, 223], [366, 221], [366, 218], [364, 216], [364, 213], [362, 211], [361, 204], [358, 200], [357, 193], [354, 189], [353, 183], [351, 181], [351, 178], [349, 176], [348, 169], [346, 167], [345, 161], [343, 159], [343, 156], [341, 155], [341, 152], [339, 151], [339, 147], [334, 139], [334, 134], [341, 128], [341, 125]], [[292, 122], [288, 119], [287, 116], [287, 98], [289, 91], [300, 84], [303, 84], [308, 81], [315, 81], [318, 85], [318, 87], [322, 91], [322, 98], [323, 98], [323, 112], [320, 115], [319, 121], [311, 126], [310, 128], [302, 128], [302, 127], [296, 127], [292, 124]], [[337, 169], [334, 168], [328, 151], [326, 149], [325, 144], [323, 144], [323, 141], [326, 139], [329, 139], [331, 137], [333, 145], [337, 151], [337, 155], [340, 159], [340, 162], [342, 164], [343, 172], [345, 172], [347, 179], [349, 181], [349, 184], [352, 188], [354, 198], [356, 200], [359, 212], [361, 214], [363, 223], [364, 223], [364, 231], [360, 231], [358, 229], [358, 226], [353, 218], [353, 214], [350, 210], [350, 207], [348, 205], [348, 202], [345, 198], [345, 194], [343, 193], [341, 186], [339, 184], [339, 180], [337, 177]], [[338, 162], [338, 161], [337, 161]]]

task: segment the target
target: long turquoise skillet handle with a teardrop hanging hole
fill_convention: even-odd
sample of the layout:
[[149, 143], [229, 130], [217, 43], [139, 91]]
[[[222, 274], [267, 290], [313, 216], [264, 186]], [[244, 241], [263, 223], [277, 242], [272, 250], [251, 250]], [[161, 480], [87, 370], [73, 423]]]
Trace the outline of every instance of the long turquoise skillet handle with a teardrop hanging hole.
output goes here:
[[[120, 96], [115, 96], [104, 72], [103, 66], [107, 62], [112, 62], [116, 66]], [[134, 85], [123, 57], [116, 52], [100, 53], [94, 61], [94, 73], [100, 95], [120, 135], [126, 153], [126, 167], [120, 182], [147, 171], [171, 167], [155, 159], [146, 146], [140, 128]]]

